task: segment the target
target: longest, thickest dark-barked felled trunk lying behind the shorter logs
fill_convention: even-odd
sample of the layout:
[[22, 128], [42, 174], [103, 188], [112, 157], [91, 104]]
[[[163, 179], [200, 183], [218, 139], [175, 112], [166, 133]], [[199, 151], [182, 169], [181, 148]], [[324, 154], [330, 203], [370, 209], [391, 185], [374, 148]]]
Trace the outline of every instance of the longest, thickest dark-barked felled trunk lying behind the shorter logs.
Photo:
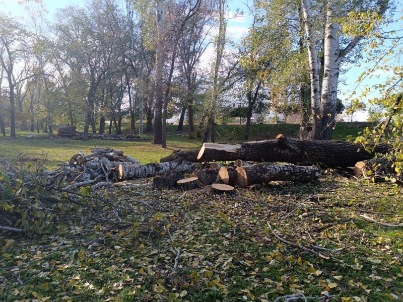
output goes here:
[[[303, 140], [279, 134], [276, 139], [244, 142], [242, 144], [204, 143], [200, 151], [176, 150], [161, 162], [181, 158], [189, 162], [242, 161], [285, 162], [291, 164], [321, 163], [328, 167], [354, 167], [357, 162], [369, 160], [375, 153], [385, 154], [391, 145], [379, 144], [373, 153], [352, 142], [330, 140]], [[359, 150], [359, 152], [357, 152]]]

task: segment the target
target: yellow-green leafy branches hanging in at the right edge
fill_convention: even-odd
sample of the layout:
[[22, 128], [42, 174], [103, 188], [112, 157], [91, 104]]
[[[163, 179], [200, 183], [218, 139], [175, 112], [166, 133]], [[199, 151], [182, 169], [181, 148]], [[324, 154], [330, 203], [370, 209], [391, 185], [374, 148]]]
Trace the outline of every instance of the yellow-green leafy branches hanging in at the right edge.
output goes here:
[[[363, 13], [364, 14], [364, 13]], [[372, 87], [365, 87], [362, 95], [354, 100], [359, 108], [361, 100], [366, 99], [370, 93], [378, 93], [378, 96], [368, 100], [372, 105], [369, 110], [369, 120], [374, 122], [375, 126], [367, 127], [361, 135], [356, 138], [356, 142], [367, 146], [368, 151], [371, 148], [369, 143], [374, 143], [374, 147], [379, 143], [388, 143], [393, 146], [393, 150], [383, 155], [389, 161], [393, 161], [394, 171], [397, 177], [401, 179], [403, 171], [403, 67], [400, 62], [403, 58], [401, 30], [387, 30], [388, 26], [397, 27], [401, 25], [401, 18], [388, 19], [378, 16], [374, 18], [373, 14], [368, 11], [363, 16], [362, 22], [358, 22], [355, 16], [351, 15], [346, 18], [344, 31], [346, 33], [354, 33], [356, 28], [368, 27], [371, 30], [370, 38], [364, 44], [364, 51], [367, 56], [366, 63], [370, 68], [364, 71], [357, 83], [361, 84], [364, 80], [377, 78], [377, 84]], [[355, 92], [352, 93], [352, 95]], [[352, 112], [352, 111], [351, 111]]]

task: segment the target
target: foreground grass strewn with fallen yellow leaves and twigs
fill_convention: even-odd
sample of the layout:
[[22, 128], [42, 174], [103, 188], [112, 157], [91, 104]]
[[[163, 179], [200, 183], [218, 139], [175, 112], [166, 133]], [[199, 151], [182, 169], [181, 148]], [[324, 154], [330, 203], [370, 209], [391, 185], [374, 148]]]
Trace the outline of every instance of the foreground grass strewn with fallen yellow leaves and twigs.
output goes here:
[[102, 203], [66, 205], [48, 234], [3, 233], [0, 300], [403, 299], [402, 193], [391, 184], [102, 192]]

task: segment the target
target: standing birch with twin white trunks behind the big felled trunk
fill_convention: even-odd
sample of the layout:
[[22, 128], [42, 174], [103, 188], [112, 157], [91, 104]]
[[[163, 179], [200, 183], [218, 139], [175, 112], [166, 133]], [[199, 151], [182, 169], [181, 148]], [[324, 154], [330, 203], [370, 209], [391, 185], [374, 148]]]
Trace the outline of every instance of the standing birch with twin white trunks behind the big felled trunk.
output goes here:
[[[312, 128], [301, 127], [300, 136], [305, 139], [330, 140], [335, 126], [336, 103], [340, 75], [340, 66], [346, 56], [365, 38], [365, 32], [358, 32], [343, 47], [341, 45], [340, 21], [349, 11], [359, 11], [360, 7], [344, 5], [341, 0], [329, 0], [326, 5], [326, 22], [324, 26], [324, 60], [323, 80], [320, 85], [320, 60], [317, 53], [315, 20], [311, 0], [301, 0], [305, 32], [308, 40], [308, 57], [311, 77]], [[365, 7], [373, 6], [375, 13], [382, 16], [388, 0], [375, 3], [367, 2]], [[347, 10], [347, 11], [346, 11]]]

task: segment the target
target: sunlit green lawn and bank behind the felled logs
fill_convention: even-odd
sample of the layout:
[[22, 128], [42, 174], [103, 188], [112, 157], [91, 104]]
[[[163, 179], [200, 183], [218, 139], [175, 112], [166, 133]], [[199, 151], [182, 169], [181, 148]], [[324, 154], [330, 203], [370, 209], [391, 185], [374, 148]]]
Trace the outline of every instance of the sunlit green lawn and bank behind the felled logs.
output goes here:
[[[334, 130], [334, 139], [345, 140], [349, 134], [357, 136], [369, 123], [338, 123]], [[72, 155], [83, 150], [84, 154], [89, 153], [89, 148], [94, 146], [111, 147], [123, 149], [126, 155], [130, 155], [142, 163], [158, 162], [160, 158], [172, 153], [174, 149], [199, 148], [201, 141], [199, 138], [187, 139], [187, 127], [183, 131], [176, 132], [177, 126], [167, 127], [167, 149], [162, 149], [158, 145], [152, 145], [153, 133], [146, 133], [148, 141], [128, 142], [128, 141], [108, 141], [91, 140], [77, 141], [67, 138], [50, 139], [27, 139], [31, 134], [27, 131], [18, 131], [17, 139], [0, 137], [0, 159], [11, 158], [16, 160], [22, 157], [26, 161], [32, 159], [42, 159], [43, 154], [47, 154], [47, 167], [55, 168], [68, 161]], [[256, 124], [251, 126], [250, 140], [274, 139], [280, 133], [289, 137], [298, 137], [298, 124]], [[9, 128], [7, 129], [10, 130]], [[245, 125], [217, 125], [217, 142], [242, 142]], [[46, 135], [46, 133], [35, 134]], [[43, 153], [42, 153], [43, 152]]]

